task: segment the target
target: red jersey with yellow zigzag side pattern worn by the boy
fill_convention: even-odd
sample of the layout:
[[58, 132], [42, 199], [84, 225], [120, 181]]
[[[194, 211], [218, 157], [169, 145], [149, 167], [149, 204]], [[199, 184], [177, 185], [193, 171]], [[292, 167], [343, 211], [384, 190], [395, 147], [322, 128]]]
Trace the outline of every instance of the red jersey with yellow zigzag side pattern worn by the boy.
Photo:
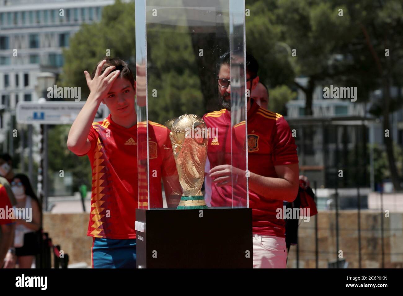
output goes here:
[[[92, 168], [88, 236], [136, 238], [135, 210], [139, 206], [148, 206], [147, 142], [141, 141], [138, 158], [137, 129], [145, 140], [145, 122], [125, 128], [113, 122], [109, 115], [104, 121], [93, 122], [91, 126], [88, 135], [91, 149], [87, 153]], [[164, 180], [168, 175], [177, 174], [169, 139], [170, 130], [166, 126], [149, 121], [148, 131], [150, 208], [162, 208], [161, 178]], [[145, 168], [140, 172], [138, 159]], [[164, 188], [166, 195], [170, 195], [168, 186]]]

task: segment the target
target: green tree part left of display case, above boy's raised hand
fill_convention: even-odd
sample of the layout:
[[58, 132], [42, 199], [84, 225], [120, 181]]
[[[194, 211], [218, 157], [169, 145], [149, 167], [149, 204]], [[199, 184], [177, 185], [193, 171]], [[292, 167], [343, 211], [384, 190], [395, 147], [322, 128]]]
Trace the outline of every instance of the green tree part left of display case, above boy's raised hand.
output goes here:
[[[84, 70], [92, 72], [96, 64], [110, 51], [111, 57], [120, 57], [135, 70], [134, 2], [105, 6], [100, 23], [82, 25], [65, 49], [62, 86], [81, 87], [81, 95], [89, 95]], [[135, 73], [133, 73], [135, 75]]]

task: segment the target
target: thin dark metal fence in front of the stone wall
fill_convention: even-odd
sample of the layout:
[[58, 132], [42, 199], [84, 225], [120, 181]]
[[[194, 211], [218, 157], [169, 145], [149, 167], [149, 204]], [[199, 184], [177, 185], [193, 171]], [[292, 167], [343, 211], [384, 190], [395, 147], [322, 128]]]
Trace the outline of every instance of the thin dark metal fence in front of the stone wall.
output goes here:
[[[335, 183], [337, 184], [337, 182]], [[314, 193], [316, 195], [315, 199], [317, 201], [317, 182], [314, 182]], [[396, 205], [387, 205], [384, 207], [384, 193], [379, 192], [377, 198], [379, 198], [380, 207], [377, 209], [363, 209], [362, 207], [362, 199], [365, 198], [360, 194], [360, 187], [357, 186], [357, 208], [356, 210], [349, 210], [349, 214], [356, 214], [355, 225], [348, 225], [348, 227], [340, 226], [340, 216], [345, 213], [345, 210], [341, 210], [339, 207], [339, 188], [336, 186], [335, 188], [334, 198], [334, 210], [328, 212], [329, 215], [334, 217], [334, 223], [329, 223], [328, 227], [322, 227], [318, 225], [318, 215], [312, 217], [314, 219], [314, 226], [304, 227], [305, 230], [313, 230], [314, 233], [314, 246], [312, 248], [301, 247], [300, 243], [302, 240], [307, 240], [307, 236], [298, 237], [298, 243], [294, 248], [290, 249], [290, 255], [295, 256], [295, 267], [300, 268], [301, 261], [306, 261], [315, 258], [315, 267], [319, 268], [320, 260], [327, 261], [328, 268], [347, 268], [353, 267], [363, 268], [368, 267], [364, 266], [363, 261], [365, 258], [370, 258], [372, 261], [378, 261], [380, 268], [385, 267], [403, 267], [403, 244], [399, 244], [399, 242], [403, 242], [403, 228], [402, 228], [402, 217], [403, 213], [400, 211], [393, 211], [396, 208]], [[392, 206], [392, 207], [391, 207]], [[385, 209], [389, 211], [389, 217], [385, 217]], [[392, 210], [392, 211], [391, 211]], [[356, 211], [356, 213], [355, 213]], [[320, 212], [319, 212], [320, 214]], [[375, 223], [379, 221], [379, 227], [376, 225], [372, 225], [370, 228], [363, 227], [362, 216], [365, 214], [371, 215], [373, 219], [375, 219]], [[394, 218], [397, 221], [398, 227], [393, 227], [393, 224], [386, 223], [390, 222], [386, 221], [386, 219]], [[397, 218], [397, 219], [396, 219]], [[329, 218], [330, 219], [330, 218]], [[332, 222], [333, 222], [332, 221]], [[331, 225], [332, 224], [332, 225]], [[388, 227], [385, 227], [385, 224], [388, 224]], [[332, 227], [334, 226], [334, 227]], [[299, 231], [301, 227], [299, 228]], [[320, 231], [329, 231], [328, 233], [334, 232], [334, 238], [328, 238], [330, 244], [327, 247], [320, 247], [320, 238], [318, 234]], [[368, 235], [370, 234], [370, 236]], [[343, 255], [340, 256], [341, 249], [341, 240], [347, 238], [348, 240], [355, 240], [357, 245], [349, 246], [347, 251], [343, 251]], [[391, 244], [386, 244], [388, 239], [395, 239], [395, 249], [391, 247]], [[373, 244], [372, 248], [375, 249], [375, 252], [365, 252], [363, 251], [364, 244]], [[351, 249], [356, 248], [356, 249]], [[293, 250], [294, 249], [294, 250]], [[295, 252], [293, 254], [293, 252]], [[394, 258], [391, 260], [391, 258]], [[397, 259], [398, 258], [398, 259]], [[391, 263], [394, 261], [394, 265]], [[311, 266], [312, 267], [312, 266]], [[323, 267], [323, 265], [322, 265]]]

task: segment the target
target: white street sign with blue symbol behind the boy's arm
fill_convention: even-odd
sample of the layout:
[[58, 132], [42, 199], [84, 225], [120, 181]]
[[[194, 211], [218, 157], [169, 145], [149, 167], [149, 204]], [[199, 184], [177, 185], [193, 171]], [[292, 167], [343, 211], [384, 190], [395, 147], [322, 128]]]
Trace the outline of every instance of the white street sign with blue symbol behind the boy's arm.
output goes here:
[[[19, 102], [16, 107], [17, 123], [21, 124], [72, 124], [85, 101]], [[94, 121], [108, 117], [109, 110], [101, 103]]]

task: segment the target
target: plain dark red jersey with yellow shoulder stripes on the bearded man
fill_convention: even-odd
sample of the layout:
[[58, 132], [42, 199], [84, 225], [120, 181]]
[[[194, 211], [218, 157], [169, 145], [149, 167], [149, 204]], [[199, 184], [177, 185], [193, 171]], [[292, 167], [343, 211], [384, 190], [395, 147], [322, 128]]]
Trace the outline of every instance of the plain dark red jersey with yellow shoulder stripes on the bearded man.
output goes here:
[[[209, 139], [208, 143], [207, 153], [211, 168], [231, 164], [231, 113], [223, 109], [208, 113], [203, 119], [208, 127], [218, 127], [218, 139]], [[289, 125], [282, 115], [264, 110], [257, 103], [252, 103], [247, 113], [247, 120], [250, 172], [277, 178], [274, 166], [298, 163], [297, 146]], [[233, 135], [236, 139], [233, 139], [233, 143], [239, 143], [239, 146], [233, 145], [233, 147], [243, 147], [239, 148], [239, 151], [234, 151], [245, 153], [245, 122], [236, 124], [234, 129]], [[233, 159], [237, 157], [233, 156]], [[242, 164], [240, 165], [239, 167], [242, 168]], [[233, 166], [237, 167], [237, 164]], [[242, 192], [244, 188], [240, 186], [235, 185], [232, 190], [234, 199], [236, 194], [246, 195], [246, 192]], [[218, 187], [212, 182], [212, 206], [231, 205], [232, 190], [231, 186]], [[285, 222], [283, 219], [276, 218], [276, 209], [283, 208], [283, 201], [263, 197], [249, 190], [249, 207], [252, 208], [253, 233], [285, 237]]]

